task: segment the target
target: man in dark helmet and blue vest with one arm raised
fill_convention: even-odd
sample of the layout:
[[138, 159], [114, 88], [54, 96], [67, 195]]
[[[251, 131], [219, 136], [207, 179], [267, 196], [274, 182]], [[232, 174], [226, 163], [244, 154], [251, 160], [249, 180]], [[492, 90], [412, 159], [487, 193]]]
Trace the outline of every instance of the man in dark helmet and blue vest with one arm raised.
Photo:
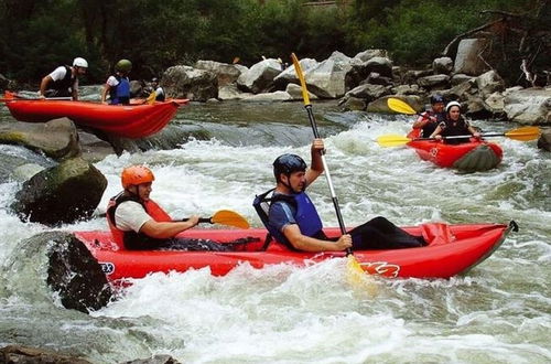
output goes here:
[[[425, 245], [421, 237], [408, 234], [385, 217], [376, 217], [335, 240], [323, 233], [314, 204], [304, 192], [324, 168], [322, 139], [314, 139], [312, 164], [307, 168], [296, 154], [282, 154], [273, 162], [276, 189], [257, 196], [253, 206], [270, 235], [293, 250], [324, 251], [353, 249], [392, 249]], [[271, 193], [271, 197], [268, 195]]]

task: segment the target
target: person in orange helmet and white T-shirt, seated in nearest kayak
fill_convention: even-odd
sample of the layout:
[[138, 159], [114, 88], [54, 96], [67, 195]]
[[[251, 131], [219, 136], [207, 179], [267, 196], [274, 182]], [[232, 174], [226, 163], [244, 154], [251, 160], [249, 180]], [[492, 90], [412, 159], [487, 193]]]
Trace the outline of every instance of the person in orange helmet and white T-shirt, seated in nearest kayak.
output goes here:
[[193, 215], [186, 221], [173, 221], [149, 197], [154, 179], [153, 172], [143, 165], [131, 165], [122, 171], [125, 190], [109, 201], [106, 214], [119, 247], [129, 250], [227, 250], [213, 240], [176, 237], [197, 225], [199, 217]]

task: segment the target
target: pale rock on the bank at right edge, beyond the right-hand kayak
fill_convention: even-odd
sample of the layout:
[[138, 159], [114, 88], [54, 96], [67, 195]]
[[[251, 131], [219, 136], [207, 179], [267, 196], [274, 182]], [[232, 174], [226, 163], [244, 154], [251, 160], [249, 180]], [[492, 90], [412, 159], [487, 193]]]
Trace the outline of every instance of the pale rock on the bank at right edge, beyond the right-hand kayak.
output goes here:
[[551, 124], [551, 88], [508, 92], [504, 101], [507, 118], [525, 125]]

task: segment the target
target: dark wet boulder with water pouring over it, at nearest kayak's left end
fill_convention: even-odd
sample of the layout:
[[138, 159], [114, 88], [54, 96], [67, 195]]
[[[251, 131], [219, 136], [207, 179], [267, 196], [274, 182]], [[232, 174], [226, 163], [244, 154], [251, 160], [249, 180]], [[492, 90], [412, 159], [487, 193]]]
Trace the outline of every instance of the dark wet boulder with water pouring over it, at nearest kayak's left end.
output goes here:
[[22, 300], [89, 313], [112, 298], [101, 266], [72, 233], [40, 233], [19, 242], [14, 251], [6, 261], [9, 289]]

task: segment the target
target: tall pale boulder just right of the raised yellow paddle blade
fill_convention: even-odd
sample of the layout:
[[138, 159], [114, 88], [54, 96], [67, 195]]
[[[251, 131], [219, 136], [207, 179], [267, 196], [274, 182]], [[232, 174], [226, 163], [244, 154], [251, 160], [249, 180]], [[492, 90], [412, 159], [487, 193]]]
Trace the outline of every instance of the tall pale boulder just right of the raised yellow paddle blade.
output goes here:
[[350, 58], [341, 52], [333, 54], [317, 66], [305, 72], [307, 89], [320, 98], [344, 96], [345, 76], [350, 69]]

